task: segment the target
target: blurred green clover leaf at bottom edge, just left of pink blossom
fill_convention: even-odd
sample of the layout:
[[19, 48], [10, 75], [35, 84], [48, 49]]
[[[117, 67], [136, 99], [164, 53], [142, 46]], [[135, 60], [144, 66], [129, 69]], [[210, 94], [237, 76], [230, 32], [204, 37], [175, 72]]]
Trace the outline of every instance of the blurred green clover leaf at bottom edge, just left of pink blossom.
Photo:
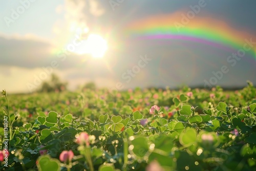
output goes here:
[[37, 168], [39, 171], [60, 171], [60, 162], [52, 159], [49, 155], [40, 156]]

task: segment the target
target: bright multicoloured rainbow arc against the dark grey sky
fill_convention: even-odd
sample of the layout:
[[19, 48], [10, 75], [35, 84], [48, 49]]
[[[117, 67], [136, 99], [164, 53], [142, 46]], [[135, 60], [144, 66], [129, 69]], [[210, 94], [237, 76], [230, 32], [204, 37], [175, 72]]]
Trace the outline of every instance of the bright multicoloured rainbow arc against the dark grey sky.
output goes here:
[[[187, 24], [182, 23], [184, 12], [168, 15], [156, 15], [137, 20], [126, 26], [125, 35], [137, 39], [180, 39], [206, 44], [230, 52], [238, 51], [246, 44], [245, 39], [256, 37], [245, 31], [231, 28], [225, 22], [214, 17], [199, 17], [189, 19]], [[183, 15], [184, 16], [184, 15]], [[256, 58], [256, 45], [248, 51], [250, 56]]]

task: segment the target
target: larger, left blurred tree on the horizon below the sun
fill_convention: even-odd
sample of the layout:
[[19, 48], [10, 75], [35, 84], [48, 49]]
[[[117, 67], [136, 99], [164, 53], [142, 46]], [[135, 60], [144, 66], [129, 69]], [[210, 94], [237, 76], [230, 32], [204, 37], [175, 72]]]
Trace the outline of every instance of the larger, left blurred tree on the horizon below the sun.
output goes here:
[[38, 92], [61, 92], [67, 89], [68, 82], [62, 82], [56, 74], [51, 75], [49, 81], [44, 81], [41, 84]]

